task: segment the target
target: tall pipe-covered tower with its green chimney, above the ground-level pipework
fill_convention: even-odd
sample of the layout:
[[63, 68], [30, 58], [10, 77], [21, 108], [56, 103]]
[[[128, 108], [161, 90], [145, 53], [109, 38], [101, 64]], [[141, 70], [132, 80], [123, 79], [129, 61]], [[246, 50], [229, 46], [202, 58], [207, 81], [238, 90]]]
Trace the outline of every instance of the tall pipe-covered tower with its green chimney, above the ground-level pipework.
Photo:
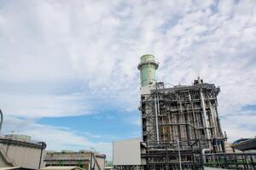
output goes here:
[[200, 77], [190, 86], [165, 88], [164, 82], [156, 82], [157, 68], [153, 55], [143, 55], [138, 65], [143, 141], [148, 147], [156, 147], [178, 140], [182, 150], [223, 152], [225, 138], [217, 109], [219, 88]]

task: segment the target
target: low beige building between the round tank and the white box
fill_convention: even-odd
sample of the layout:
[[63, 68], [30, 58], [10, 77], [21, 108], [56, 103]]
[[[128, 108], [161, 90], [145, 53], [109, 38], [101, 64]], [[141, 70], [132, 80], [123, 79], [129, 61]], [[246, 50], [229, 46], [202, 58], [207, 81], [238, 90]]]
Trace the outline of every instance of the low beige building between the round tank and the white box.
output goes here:
[[106, 155], [91, 150], [62, 150], [47, 151], [44, 157], [45, 166], [73, 166], [85, 170], [103, 170], [105, 167]]

